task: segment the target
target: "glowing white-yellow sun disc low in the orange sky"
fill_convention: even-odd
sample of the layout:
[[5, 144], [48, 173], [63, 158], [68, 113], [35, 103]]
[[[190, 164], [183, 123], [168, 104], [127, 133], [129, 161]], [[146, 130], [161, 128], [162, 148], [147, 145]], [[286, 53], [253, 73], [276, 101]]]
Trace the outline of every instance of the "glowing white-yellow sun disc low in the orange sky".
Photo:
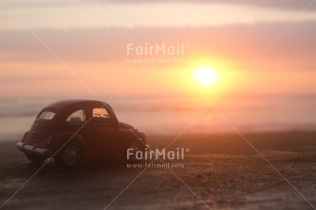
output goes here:
[[204, 67], [195, 71], [196, 82], [202, 86], [211, 86], [218, 80], [218, 73], [215, 69]]

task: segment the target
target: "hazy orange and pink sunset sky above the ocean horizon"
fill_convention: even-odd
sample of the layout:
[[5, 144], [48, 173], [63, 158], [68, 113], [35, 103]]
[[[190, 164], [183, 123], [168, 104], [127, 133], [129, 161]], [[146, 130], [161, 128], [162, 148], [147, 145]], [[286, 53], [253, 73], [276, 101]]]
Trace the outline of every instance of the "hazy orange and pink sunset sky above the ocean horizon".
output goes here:
[[0, 97], [315, 94], [315, 23], [307, 0], [0, 0]]

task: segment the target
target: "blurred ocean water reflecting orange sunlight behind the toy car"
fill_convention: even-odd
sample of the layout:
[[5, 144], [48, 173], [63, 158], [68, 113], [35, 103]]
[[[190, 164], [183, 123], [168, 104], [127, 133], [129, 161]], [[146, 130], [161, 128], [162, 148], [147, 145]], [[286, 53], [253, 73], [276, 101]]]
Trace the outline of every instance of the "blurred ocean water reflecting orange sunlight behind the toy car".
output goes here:
[[[0, 141], [20, 141], [41, 109], [62, 99], [0, 97]], [[118, 96], [109, 104], [120, 121], [145, 134], [316, 129], [316, 95], [225, 96], [210, 102], [193, 97]]]

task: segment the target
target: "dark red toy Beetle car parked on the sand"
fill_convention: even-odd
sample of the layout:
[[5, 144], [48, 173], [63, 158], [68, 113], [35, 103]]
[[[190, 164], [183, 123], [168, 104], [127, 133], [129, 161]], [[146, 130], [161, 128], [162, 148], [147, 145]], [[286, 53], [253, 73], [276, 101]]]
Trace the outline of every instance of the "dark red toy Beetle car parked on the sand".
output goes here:
[[82, 159], [110, 156], [137, 161], [126, 151], [144, 152], [149, 148], [145, 139], [143, 132], [120, 122], [106, 102], [71, 99], [43, 108], [16, 147], [34, 163], [51, 157], [57, 165], [76, 167]]

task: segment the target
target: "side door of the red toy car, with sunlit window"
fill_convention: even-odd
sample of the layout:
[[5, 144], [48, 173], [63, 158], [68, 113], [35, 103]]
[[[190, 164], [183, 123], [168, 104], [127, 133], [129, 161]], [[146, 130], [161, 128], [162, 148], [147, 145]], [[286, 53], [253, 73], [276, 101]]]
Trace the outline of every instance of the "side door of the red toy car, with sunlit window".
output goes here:
[[91, 107], [92, 149], [95, 155], [115, 154], [118, 151], [120, 130], [106, 107]]

